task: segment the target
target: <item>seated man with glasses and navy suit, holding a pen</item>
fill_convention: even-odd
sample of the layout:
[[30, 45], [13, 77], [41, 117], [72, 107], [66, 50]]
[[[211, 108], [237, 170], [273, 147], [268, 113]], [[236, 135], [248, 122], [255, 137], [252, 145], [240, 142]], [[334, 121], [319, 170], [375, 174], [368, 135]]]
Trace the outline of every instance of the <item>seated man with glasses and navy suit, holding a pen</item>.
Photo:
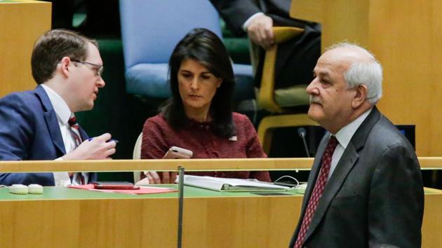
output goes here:
[[[115, 153], [111, 135], [88, 139], [74, 112], [93, 108], [102, 60], [95, 41], [62, 29], [43, 34], [32, 51], [35, 90], [0, 99], [0, 160], [105, 159]], [[0, 184], [65, 186], [95, 173], [1, 173]]]

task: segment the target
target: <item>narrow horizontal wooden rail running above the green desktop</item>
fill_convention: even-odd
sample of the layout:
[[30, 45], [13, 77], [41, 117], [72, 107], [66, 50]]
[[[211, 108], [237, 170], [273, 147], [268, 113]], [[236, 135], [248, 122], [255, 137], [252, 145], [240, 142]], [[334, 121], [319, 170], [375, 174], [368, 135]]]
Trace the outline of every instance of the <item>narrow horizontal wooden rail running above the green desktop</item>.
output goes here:
[[[423, 170], [442, 169], [442, 157], [418, 157]], [[218, 158], [78, 161], [0, 161], [0, 172], [127, 172], [210, 170], [310, 170], [313, 158]]]

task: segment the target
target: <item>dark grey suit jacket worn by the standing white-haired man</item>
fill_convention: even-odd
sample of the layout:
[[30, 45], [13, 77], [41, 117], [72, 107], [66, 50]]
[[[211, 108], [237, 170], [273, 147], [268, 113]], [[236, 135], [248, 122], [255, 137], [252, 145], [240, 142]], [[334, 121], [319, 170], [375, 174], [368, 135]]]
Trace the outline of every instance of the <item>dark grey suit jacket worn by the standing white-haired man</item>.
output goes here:
[[[301, 217], [321, 169], [328, 142], [314, 158]], [[304, 247], [420, 247], [424, 192], [412, 146], [376, 107], [351, 138], [326, 184]]]

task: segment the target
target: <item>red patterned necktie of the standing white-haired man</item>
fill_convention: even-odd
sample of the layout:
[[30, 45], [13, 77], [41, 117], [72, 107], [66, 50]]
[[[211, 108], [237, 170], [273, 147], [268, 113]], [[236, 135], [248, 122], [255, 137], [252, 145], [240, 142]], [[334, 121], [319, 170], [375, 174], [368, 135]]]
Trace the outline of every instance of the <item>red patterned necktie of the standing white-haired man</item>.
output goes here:
[[318, 207], [318, 202], [319, 199], [321, 199], [321, 195], [324, 192], [324, 188], [326, 188], [328, 172], [330, 172], [331, 158], [333, 156], [333, 152], [336, 149], [336, 146], [337, 146], [336, 137], [335, 136], [330, 137], [330, 139], [328, 140], [326, 150], [324, 151], [322, 156], [321, 172], [319, 172], [318, 179], [316, 180], [316, 184], [314, 185], [312, 195], [310, 196], [309, 199], [309, 204], [307, 205], [307, 209], [305, 210], [300, 232], [297, 235], [297, 240], [295, 242], [294, 248], [300, 248], [304, 243], [305, 234], [307, 233], [310, 223], [312, 222], [314, 212], [316, 211], [316, 207]]

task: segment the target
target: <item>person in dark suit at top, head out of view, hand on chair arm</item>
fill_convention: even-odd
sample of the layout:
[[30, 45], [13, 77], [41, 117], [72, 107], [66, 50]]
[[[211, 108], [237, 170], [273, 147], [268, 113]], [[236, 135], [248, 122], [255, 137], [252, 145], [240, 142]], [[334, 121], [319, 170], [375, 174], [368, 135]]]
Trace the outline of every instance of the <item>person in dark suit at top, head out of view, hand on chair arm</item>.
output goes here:
[[259, 86], [264, 62], [264, 50], [274, 44], [273, 26], [300, 27], [304, 32], [279, 44], [275, 65], [275, 88], [307, 85], [312, 81], [312, 69], [321, 55], [321, 27], [317, 23], [290, 18], [290, 0], [210, 0], [236, 35], [248, 34], [257, 50], [255, 82]]

